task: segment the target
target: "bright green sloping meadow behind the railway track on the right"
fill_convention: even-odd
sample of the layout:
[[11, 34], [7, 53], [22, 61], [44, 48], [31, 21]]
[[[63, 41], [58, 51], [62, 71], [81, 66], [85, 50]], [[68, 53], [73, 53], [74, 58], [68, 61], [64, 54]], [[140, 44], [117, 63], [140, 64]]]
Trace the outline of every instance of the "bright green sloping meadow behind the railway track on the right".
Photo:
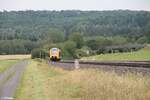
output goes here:
[[150, 47], [145, 47], [137, 52], [101, 54], [90, 57], [83, 57], [81, 60], [100, 60], [100, 61], [150, 61]]

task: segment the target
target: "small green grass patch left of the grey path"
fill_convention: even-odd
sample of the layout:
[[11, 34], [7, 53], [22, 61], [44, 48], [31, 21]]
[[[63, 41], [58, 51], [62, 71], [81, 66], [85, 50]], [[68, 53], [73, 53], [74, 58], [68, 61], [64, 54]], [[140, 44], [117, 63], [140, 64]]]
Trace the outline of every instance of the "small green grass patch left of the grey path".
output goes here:
[[7, 70], [9, 67], [16, 64], [18, 60], [0, 60], [0, 73]]

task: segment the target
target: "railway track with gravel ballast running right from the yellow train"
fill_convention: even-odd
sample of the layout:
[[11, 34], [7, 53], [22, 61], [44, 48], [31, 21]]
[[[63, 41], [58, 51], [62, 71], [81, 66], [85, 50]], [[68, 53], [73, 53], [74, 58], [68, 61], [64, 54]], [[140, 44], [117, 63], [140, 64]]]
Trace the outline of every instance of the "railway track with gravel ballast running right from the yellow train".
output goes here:
[[150, 75], [150, 61], [75, 61], [62, 60], [60, 62], [51, 63], [56, 67], [61, 67], [66, 70], [73, 70], [77, 68], [97, 68], [105, 71], [115, 71], [119, 74], [131, 72], [142, 73]]

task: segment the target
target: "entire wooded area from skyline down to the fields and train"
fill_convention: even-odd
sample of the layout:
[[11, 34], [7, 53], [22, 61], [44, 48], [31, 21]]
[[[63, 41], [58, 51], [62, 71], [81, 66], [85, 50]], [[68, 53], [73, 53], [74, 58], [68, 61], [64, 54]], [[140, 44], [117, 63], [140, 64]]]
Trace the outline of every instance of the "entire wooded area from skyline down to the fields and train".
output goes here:
[[48, 52], [64, 57], [129, 52], [150, 43], [148, 11], [3, 11], [0, 54]]

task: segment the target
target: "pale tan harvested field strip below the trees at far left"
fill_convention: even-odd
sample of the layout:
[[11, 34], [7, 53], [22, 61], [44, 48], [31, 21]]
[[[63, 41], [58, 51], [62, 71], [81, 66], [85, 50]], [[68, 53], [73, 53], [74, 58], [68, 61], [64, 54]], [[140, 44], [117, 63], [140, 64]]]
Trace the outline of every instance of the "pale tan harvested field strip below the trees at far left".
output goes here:
[[0, 60], [28, 59], [31, 55], [0, 55]]

